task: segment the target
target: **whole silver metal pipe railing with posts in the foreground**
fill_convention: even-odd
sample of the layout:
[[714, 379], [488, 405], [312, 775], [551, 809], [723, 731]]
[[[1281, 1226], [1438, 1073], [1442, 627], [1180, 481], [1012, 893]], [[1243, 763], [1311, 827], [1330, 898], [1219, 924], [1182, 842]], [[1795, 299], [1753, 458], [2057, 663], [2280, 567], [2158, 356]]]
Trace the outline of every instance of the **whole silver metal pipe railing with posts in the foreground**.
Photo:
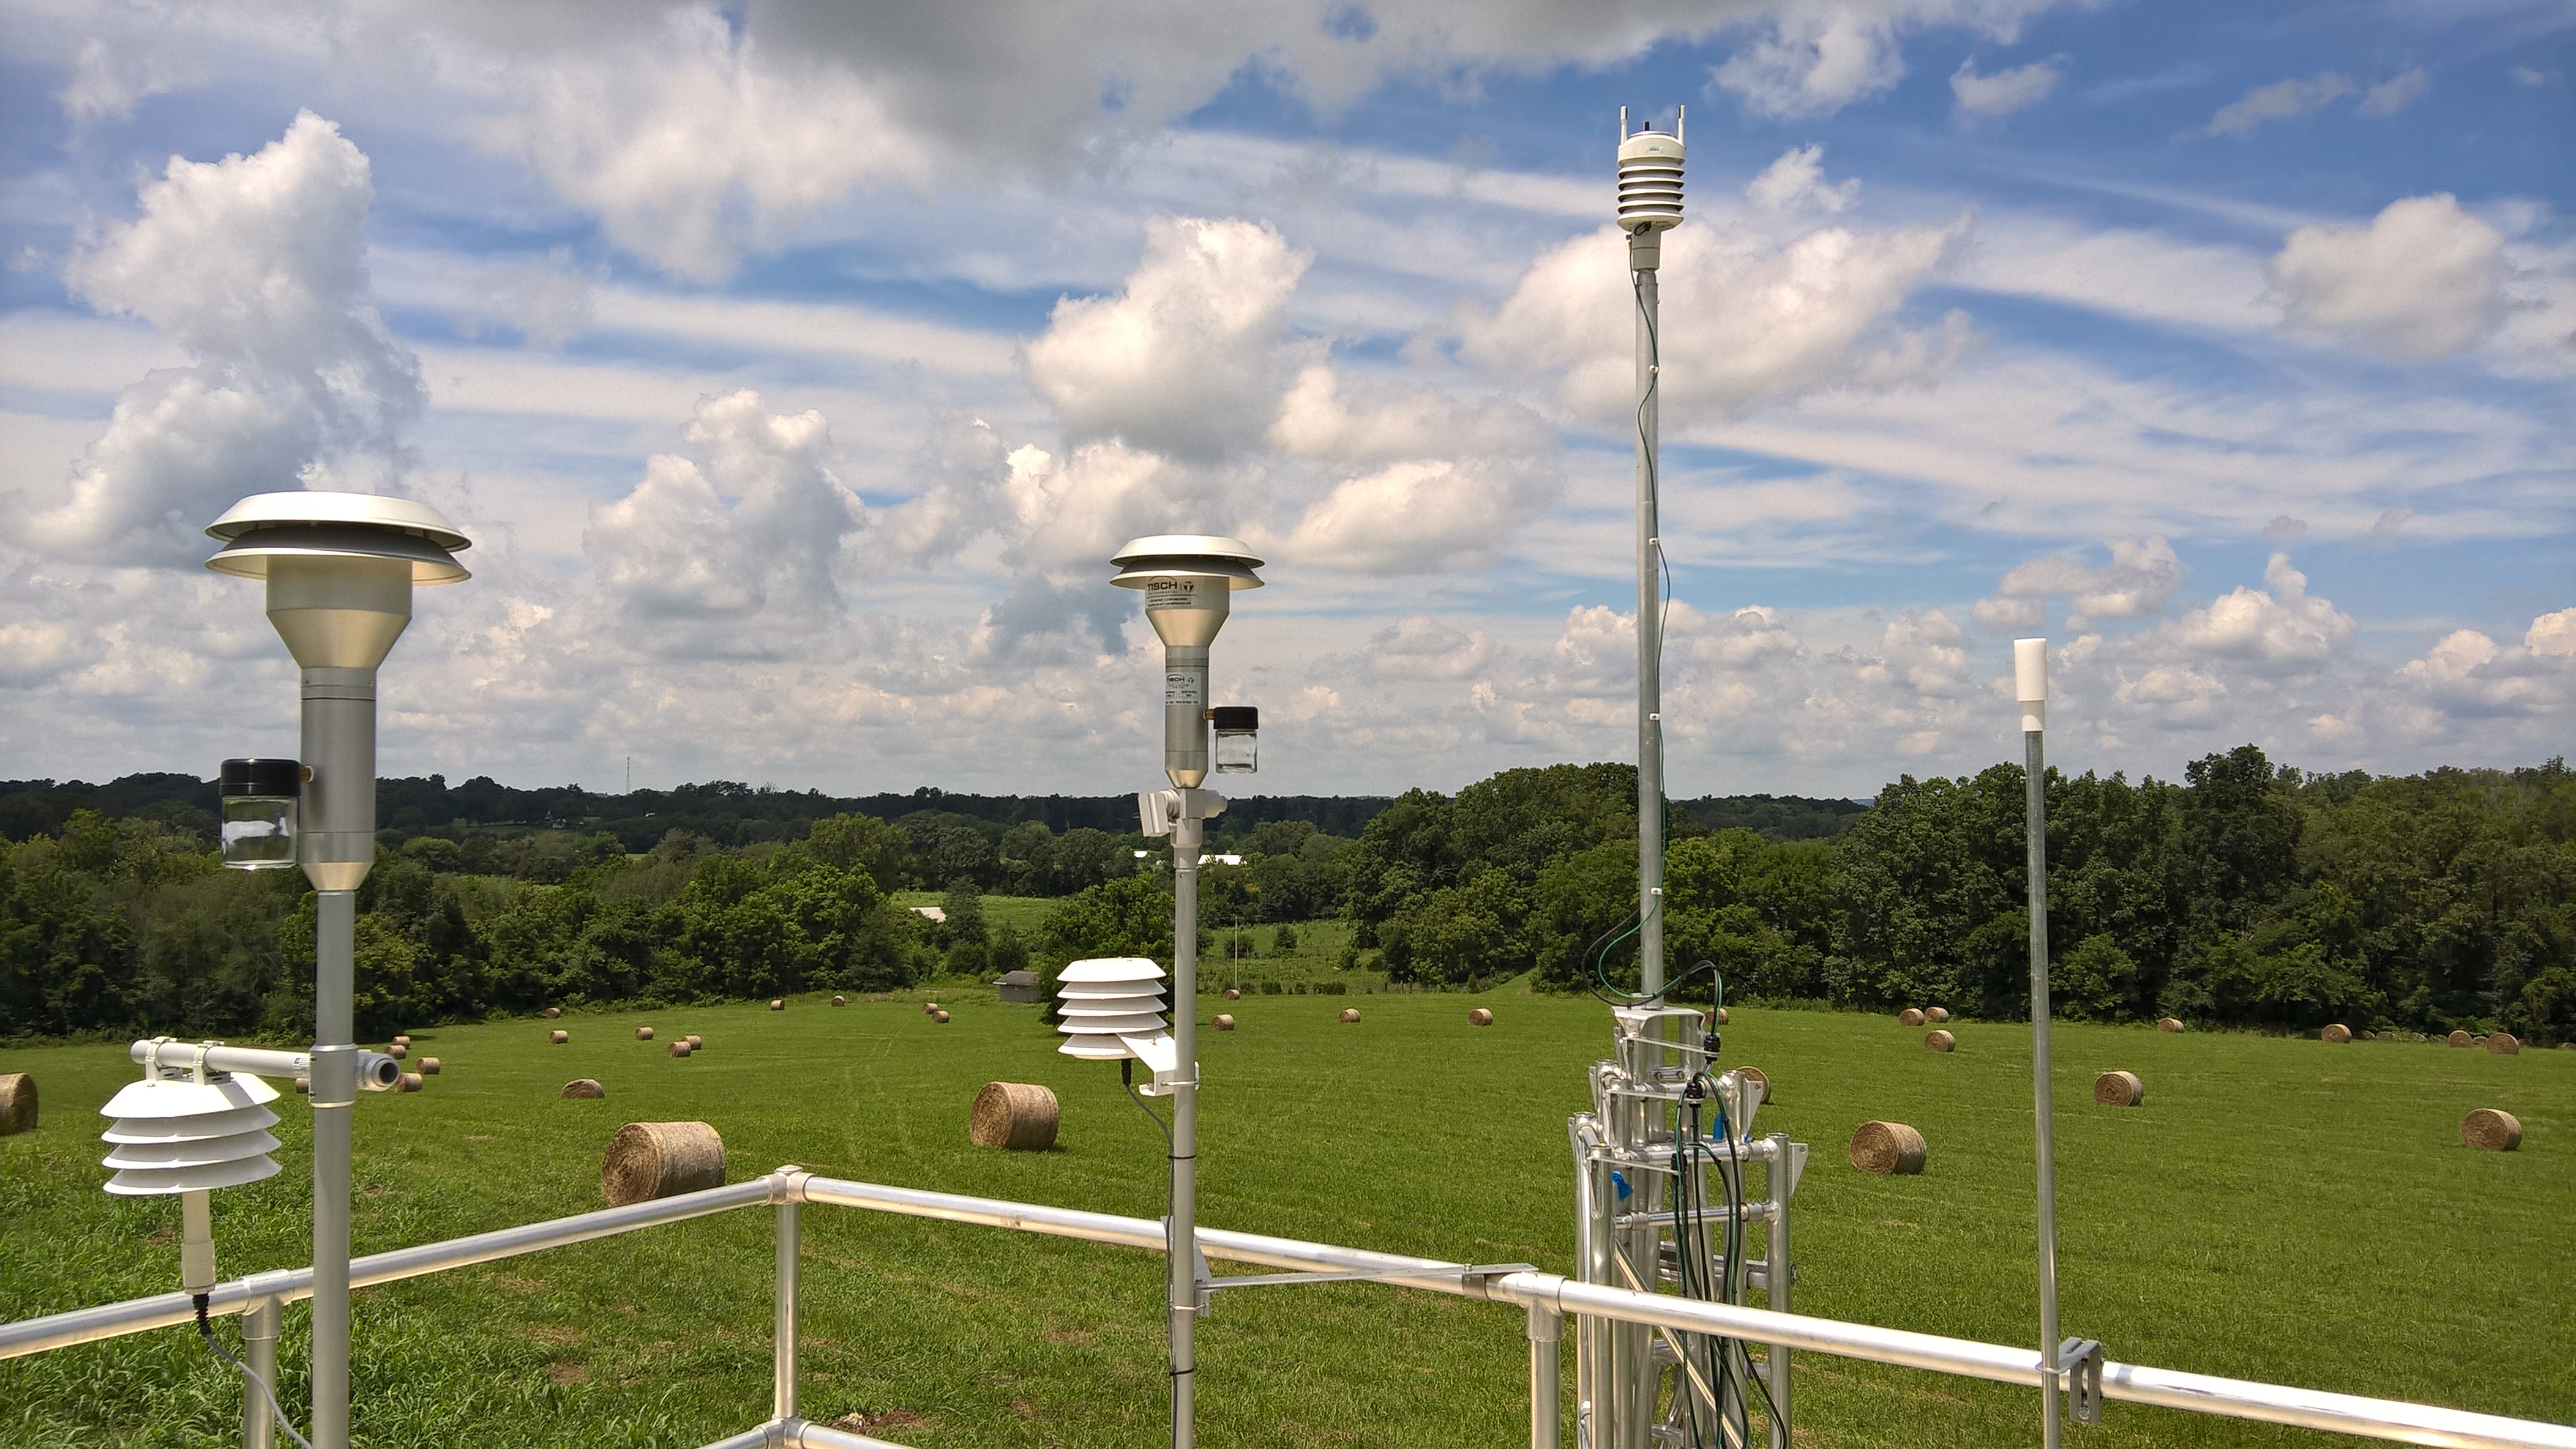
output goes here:
[[[1079, 1238], [1087, 1243], [1113, 1243], [1123, 1248], [1162, 1251], [1164, 1246], [1162, 1223], [1149, 1217], [1118, 1217], [1110, 1212], [1082, 1212], [1074, 1207], [1046, 1207], [1036, 1202], [1002, 1202], [953, 1192], [840, 1181], [786, 1166], [752, 1181], [711, 1186], [706, 1192], [665, 1197], [659, 1202], [580, 1212], [574, 1217], [526, 1223], [497, 1233], [474, 1233], [469, 1238], [448, 1238], [443, 1243], [422, 1243], [417, 1248], [353, 1259], [350, 1287], [389, 1284], [446, 1269], [515, 1259], [544, 1248], [636, 1233], [641, 1228], [659, 1228], [665, 1223], [685, 1223], [690, 1217], [708, 1217], [737, 1207], [773, 1204], [778, 1210], [778, 1300], [770, 1418], [768, 1423], [744, 1428], [732, 1439], [719, 1439], [706, 1449], [902, 1449], [886, 1439], [809, 1423], [796, 1413], [799, 1238], [801, 1207], [806, 1202], [860, 1207], [868, 1212], [896, 1212], [904, 1217], [933, 1217], [943, 1223], [974, 1223], [981, 1228], [1012, 1228], [1020, 1233]], [[1767, 1307], [1736, 1307], [1728, 1302], [1631, 1292], [1584, 1284], [1558, 1274], [1517, 1269], [1497, 1271], [1476, 1264], [1373, 1253], [1368, 1248], [1342, 1248], [1332, 1243], [1306, 1243], [1298, 1238], [1270, 1238], [1262, 1233], [1234, 1233], [1224, 1228], [1200, 1228], [1198, 1246], [1208, 1259], [1234, 1264], [1319, 1274], [1365, 1274], [1368, 1279], [1391, 1282], [1396, 1287], [1520, 1305], [1528, 1315], [1530, 1341], [1533, 1449], [1561, 1449], [1564, 1444], [1558, 1343], [1564, 1336], [1561, 1320], [1569, 1313], [1615, 1323], [1643, 1323], [1677, 1333], [1747, 1338], [1772, 1343], [1775, 1351], [1834, 1354], [1842, 1359], [1929, 1369], [1937, 1374], [1960, 1374], [2004, 1385], [2040, 1387], [2050, 1382], [2050, 1372], [2040, 1364], [2040, 1354], [2035, 1349], [2009, 1349], [2002, 1343], [1976, 1343], [1937, 1333], [1909, 1333], [1904, 1328], [1873, 1328], [1868, 1323], [1844, 1323], [1837, 1318], [1808, 1318], [1803, 1313], [1772, 1313]], [[1224, 1279], [1216, 1282], [1224, 1284]], [[209, 1313], [245, 1313], [250, 1315], [252, 1328], [265, 1323], [265, 1331], [270, 1333], [268, 1343], [273, 1364], [276, 1313], [281, 1305], [301, 1297], [312, 1297], [312, 1269], [265, 1271], [216, 1284], [209, 1297]], [[95, 1343], [100, 1338], [121, 1338], [126, 1333], [149, 1333], [152, 1328], [170, 1328], [193, 1320], [196, 1305], [185, 1292], [134, 1297], [100, 1307], [54, 1313], [46, 1318], [23, 1318], [18, 1323], [0, 1323], [0, 1359], [44, 1354], [72, 1343]], [[252, 1351], [258, 1351], [258, 1343], [260, 1341], [255, 1336]], [[255, 1361], [255, 1367], [260, 1364]], [[2066, 1387], [2063, 1372], [2056, 1377], [2061, 1380], [2058, 1387]], [[258, 1405], [258, 1395], [247, 1398], [252, 1405], [245, 1408], [245, 1444], [265, 1449], [265, 1405]], [[2102, 1398], [2262, 1423], [2324, 1428], [2334, 1434], [2357, 1434], [2398, 1444], [2439, 1444], [2450, 1449], [2576, 1449], [2576, 1426], [2563, 1423], [2262, 1385], [2215, 1374], [2182, 1374], [2143, 1364], [2102, 1364]]]

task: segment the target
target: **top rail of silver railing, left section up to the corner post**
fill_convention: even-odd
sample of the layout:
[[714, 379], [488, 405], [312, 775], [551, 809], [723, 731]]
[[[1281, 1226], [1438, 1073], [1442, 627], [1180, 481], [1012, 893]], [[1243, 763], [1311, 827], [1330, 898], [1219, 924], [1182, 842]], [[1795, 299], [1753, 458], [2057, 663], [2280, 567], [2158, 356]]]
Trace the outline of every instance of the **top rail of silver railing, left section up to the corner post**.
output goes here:
[[[587, 1243], [592, 1238], [636, 1233], [641, 1228], [659, 1228], [665, 1223], [685, 1223], [690, 1217], [706, 1217], [711, 1212], [729, 1212], [734, 1207], [770, 1202], [770, 1192], [773, 1192], [773, 1179], [760, 1176], [752, 1181], [737, 1181], [732, 1186], [711, 1186], [706, 1192], [662, 1197], [657, 1202], [603, 1207], [598, 1212], [549, 1217], [544, 1223], [500, 1228], [495, 1233], [477, 1233], [471, 1238], [422, 1243], [420, 1248], [368, 1253], [348, 1264], [348, 1284], [376, 1287], [399, 1279], [417, 1279], [422, 1274], [464, 1269], [471, 1264], [489, 1264], [495, 1259], [538, 1253], [544, 1248]], [[312, 1295], [314, 1295], [312, 1269], [250, 1274], [245, 1279], [214, 1284], [214, 1292], [206, 1295], [206, 1313], [216, 1315], [247, 1313], [260, 1302], [296, 1302]], [[157, 1297], [129, 1297], [126, 1302], [108, 1302], [100, 1307], [75, 1307], [72, 1313], [52, 1313], [46, 1318], [21, 1318], [18, 1323], [0, 1323], [0, 1359], [44, 1354], [46, 1349], [67, 1349], [72, 1343], [93, 1343], [98, 1338], [118, 1338], [126, 1333], [147, 1333], [152, 1328], [170, 1328], [193, 1320], [196, 1320], [196, 1305], [188, 1300], [185, 1292], [165, 1292]]]

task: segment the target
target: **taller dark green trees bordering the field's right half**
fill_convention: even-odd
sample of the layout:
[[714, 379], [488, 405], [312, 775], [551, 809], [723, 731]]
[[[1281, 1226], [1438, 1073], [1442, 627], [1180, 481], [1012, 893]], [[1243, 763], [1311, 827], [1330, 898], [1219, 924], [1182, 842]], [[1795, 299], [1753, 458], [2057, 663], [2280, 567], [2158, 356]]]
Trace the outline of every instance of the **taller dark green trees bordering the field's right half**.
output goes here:
[[[2048, 772], [2050, 999], [2076, 1019], [2576, 1037], [2576, 775]], [[1507, 770], [1381, 811], [1345, 911], [1396, 978], [1633, 988], [1636, 770]], [[2025, 775], [1899, 777], [1850, 831], [1677, 816], [1664, 942], [1739, 999], [2027, 1014]], [[1690, 988], [1705, 996], [1705, 981]]]

